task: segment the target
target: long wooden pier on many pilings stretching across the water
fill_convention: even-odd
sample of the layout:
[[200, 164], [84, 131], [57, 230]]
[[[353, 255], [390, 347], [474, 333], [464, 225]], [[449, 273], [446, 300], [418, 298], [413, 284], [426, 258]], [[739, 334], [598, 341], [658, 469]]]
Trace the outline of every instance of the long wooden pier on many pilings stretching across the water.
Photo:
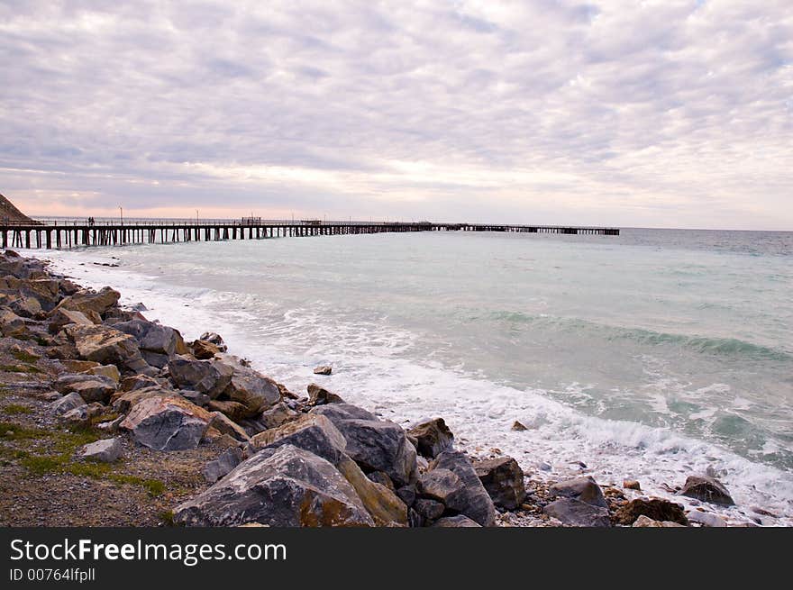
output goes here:
[[176, 243], [186, 241], [264, 240], [406, 231], [512, 231], [566, 235], [618, 236], [618, 228], [555, 225], [503, 225], [435, 222], [300, 222], [248, 218], [238, 221], [55, 220], [0, 225], [3, 248], [68, 249], [86, 246]]

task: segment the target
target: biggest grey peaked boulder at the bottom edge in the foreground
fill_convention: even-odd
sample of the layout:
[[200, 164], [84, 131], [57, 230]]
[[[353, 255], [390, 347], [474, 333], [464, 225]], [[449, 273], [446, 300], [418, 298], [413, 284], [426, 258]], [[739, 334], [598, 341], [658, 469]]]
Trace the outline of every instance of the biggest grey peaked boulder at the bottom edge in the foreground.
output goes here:
[[324, 458], [284, 445], [243, 461], [202, 494], [179, 504], [188, 526], [373, 526], [351, 484]]

